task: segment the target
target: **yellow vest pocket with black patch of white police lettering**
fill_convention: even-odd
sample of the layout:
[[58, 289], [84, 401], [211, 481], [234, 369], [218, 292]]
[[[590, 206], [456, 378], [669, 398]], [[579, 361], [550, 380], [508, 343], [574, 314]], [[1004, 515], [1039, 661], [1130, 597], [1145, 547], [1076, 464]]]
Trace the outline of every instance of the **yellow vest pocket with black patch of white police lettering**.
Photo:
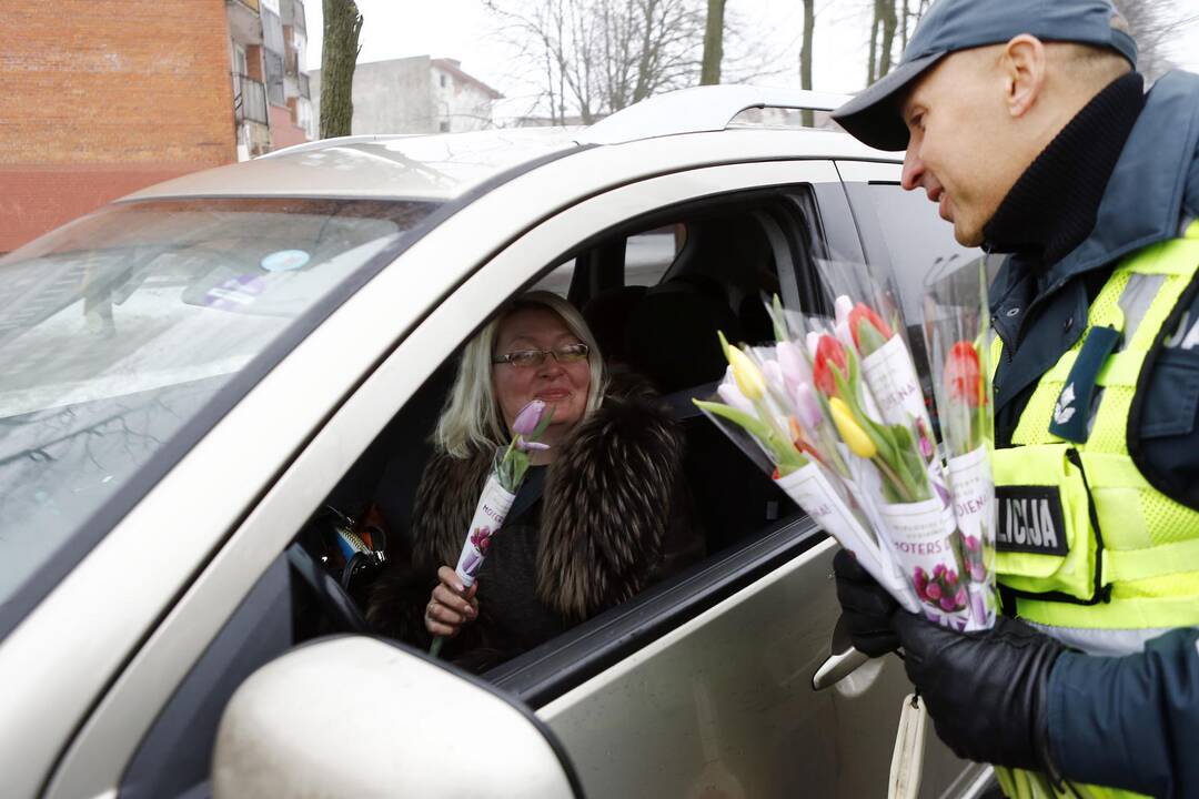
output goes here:
[[996, 449], [995, 571], [1017, 595], [1099, 601], [1102, 535], [1070, 443]]

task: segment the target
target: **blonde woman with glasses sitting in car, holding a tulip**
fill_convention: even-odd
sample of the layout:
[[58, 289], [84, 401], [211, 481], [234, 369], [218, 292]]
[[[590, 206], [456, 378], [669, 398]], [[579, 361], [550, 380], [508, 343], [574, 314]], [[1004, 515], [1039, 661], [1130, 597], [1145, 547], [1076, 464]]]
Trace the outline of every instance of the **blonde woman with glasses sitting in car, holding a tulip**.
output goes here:
[[[496, 449], [534, 399], [554, 416], [478, 581], [454, 574]], [[416, 492], [411, 564], [372, 591], [367, 618], [482, 670], [621, 603], [701, 556], [669, 413], [646, 383], [607, 374], [582, 315], [549, 292], [510, 302], [465, 347]]]

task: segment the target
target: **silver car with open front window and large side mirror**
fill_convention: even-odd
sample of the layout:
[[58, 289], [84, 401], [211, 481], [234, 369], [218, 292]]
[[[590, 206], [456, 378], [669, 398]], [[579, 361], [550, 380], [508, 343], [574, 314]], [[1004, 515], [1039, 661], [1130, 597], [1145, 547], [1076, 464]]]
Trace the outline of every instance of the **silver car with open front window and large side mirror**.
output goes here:
[[[870, 262], [918, 303], [976, 255], [894, 153], [789, 125], [843, 99], [314, 141], [0, 260], [5, 794], [884, 795], [902, 664], [852, 650], [836, 543], [689, 401], [764, 297], [827, 309], [821, 268]], [[403, 533], [457, 353], [532, 286], [674, 408], [707, 555], [476, 676], [373, 636], [312, 541]], [[929, 734], [921, 795], [990, 780]]]

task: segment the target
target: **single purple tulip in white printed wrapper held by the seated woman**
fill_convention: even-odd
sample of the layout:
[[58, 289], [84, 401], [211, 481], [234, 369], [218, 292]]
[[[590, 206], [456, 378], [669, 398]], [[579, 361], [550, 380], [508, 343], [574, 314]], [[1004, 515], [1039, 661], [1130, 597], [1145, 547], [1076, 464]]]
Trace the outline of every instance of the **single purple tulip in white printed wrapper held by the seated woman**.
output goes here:
[[[553, 417], [554, 410], [547, 410], [542, 400], [529, 402], [517, 413], [512, 423], [512, 441], [496, 453], [495, 468], [483, 484], [483, 492], [478, 497], [478, 504], [475, 506], [475, 515], [466, 528], [466, 540], [458, 555], [454, 573], [462, 580], [464, 588], [475, 585], [478, 570], [487, 558], [492, 537], [504, 526], [504, 519], [512, 509], [517, 491], [520, 490], [520, 484], [529, 472], [532, 453], [549, 449], [549, 444], [541, 443], [538, 438], [544, 435]], [[444, 642], [441, 636], [435, 637], [429, 654], [435, 658], [441, 652]]]

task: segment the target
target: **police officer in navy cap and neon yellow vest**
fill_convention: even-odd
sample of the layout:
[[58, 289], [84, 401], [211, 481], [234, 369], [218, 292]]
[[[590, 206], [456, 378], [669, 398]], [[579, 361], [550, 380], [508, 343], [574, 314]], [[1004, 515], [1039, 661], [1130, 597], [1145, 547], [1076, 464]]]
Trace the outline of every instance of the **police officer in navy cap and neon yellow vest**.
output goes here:
[[855, 644], [902, 646], [938, 734], [1013, 797], [1199, 795], [1199, 75], [1146, 95], [1135, 63], [1108, 0], [939, 0], [835, 114], [1008, 254], [1005, 616], [951, 632], [835, 569]]

